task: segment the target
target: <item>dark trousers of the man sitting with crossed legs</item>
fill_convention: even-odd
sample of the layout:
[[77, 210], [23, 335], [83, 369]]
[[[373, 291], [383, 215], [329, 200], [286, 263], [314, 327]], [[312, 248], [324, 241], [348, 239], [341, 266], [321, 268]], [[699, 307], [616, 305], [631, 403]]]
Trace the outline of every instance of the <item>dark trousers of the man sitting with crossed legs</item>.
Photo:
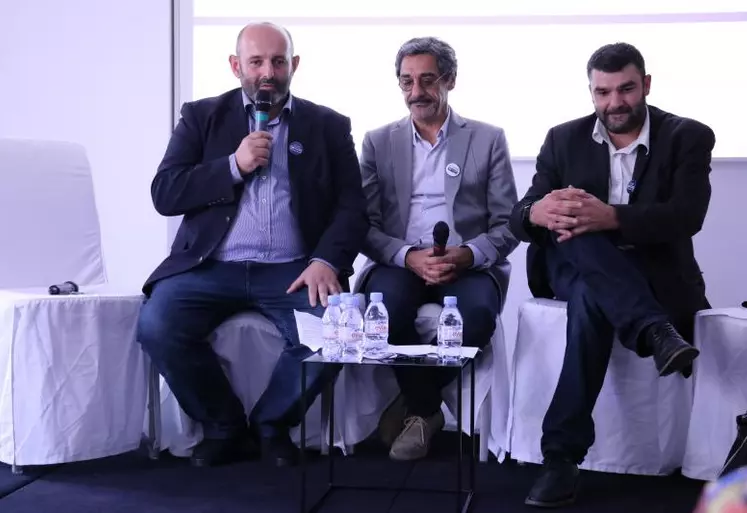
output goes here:
[[640, 335], [667, 316], [634, 250], [618, 249], [606, 234], [554, 242], [546, 254], [553, 291], [568, 303], [568, 325], [563, 369], [542, 424], [542, 453], [580, 463], [594, 443], [591, 414], [615, 334], [626, 348], [644, 355]]

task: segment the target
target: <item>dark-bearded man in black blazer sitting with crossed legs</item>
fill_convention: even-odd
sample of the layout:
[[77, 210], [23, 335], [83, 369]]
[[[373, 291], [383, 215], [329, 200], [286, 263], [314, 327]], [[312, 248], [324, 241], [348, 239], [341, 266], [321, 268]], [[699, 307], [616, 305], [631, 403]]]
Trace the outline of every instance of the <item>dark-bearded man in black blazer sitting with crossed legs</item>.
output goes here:
[[711, 196], [710, 128], [647, 106], [651, 77], [629, 44], [587, 66], [596, 114], [547, 134], [511, 227], [530, 242], [529, 286], [567, 301], [567, 346], [543, 423], [544, 466], [526, 503], [575, 498], [614, 335], [661, 376], [690, 373], [694, 316], [709, 308], [693, 254]]

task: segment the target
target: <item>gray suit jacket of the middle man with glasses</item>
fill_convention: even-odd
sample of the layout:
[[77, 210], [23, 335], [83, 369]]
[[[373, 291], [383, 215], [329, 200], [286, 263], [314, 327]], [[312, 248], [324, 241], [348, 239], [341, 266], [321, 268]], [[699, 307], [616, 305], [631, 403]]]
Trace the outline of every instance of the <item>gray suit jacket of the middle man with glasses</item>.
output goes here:
[[[390, 264], [406, 245], [412, 130], [408, 116], [368, 132], [363, 139], [361, 174], [371, 223], [363, 254], [370, 262], [356, 288], [373, 265]], [[455, 177], [445, 176], [449, 221], [464, 244], [474, 244], [485, 255], [487, 263], [481, 269], [493, 277], [505, 299], [510, 274], [506, 257], [519, 244], [508, 224], [518, 198], [506, 137], [502, 129], [464, 119], [452, 110], [446, 155], [447, 163], [461, 169]]]

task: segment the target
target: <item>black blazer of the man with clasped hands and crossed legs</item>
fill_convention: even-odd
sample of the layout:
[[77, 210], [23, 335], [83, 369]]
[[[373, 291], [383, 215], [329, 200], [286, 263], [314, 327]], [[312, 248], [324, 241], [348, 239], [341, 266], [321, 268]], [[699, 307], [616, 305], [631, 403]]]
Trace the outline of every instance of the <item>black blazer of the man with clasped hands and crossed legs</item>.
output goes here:
[[[715, 136], [702, 123], [655, 107], [649, 107], [649, 115], [650, 150], [648, 154], [638, 150], [636, 187], [629, 203], [615, 206], [617, 235], [623, 244], [635, 246], [657, 299], [687, 337], [695, 312], [710, 307], [692, 237], [703, 226], [711, 198]], [[592, 114], [548, 132], [532, 185], [512, 211], [511, 229], [520, 240], [530, 242], [527, 277], [535, 297], [554, 297], [542, 249], [550, 234], [543, 228], [527, 229], [523, 207], [569, 185], [608, 201], [609, 150], [591, 137], [595, 121]]]

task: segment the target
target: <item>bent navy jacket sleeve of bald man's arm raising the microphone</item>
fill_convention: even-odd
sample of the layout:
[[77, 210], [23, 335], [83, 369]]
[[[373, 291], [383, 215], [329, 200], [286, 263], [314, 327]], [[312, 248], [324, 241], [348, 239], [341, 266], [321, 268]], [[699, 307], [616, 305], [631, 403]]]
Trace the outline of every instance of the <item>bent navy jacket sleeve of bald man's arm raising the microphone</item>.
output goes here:
[[234, 201], [237, 179], [229, 156], [202, 162], [203, 141], [192, 106], [184, 104], [151, 184], [156, 211], [178, 216]]

